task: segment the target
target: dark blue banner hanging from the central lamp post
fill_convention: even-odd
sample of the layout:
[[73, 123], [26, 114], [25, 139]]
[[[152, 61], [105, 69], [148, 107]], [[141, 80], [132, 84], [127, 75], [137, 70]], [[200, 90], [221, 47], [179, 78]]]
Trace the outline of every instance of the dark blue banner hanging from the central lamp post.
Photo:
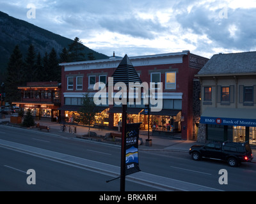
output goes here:
[[138, 140], [141, 123], [128, 123], [126, 125], [126, 155], [125, 155], [125, 175], [140, 171], [138, 161]]

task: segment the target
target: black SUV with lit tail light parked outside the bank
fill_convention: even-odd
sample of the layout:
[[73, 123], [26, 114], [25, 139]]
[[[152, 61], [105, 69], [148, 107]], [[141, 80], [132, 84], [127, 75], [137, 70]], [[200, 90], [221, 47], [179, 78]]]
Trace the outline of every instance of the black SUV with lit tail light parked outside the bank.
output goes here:
[[206, 145], [193, 145], [189, 149], [192, 159], [202, 157], [227, 161], [229, 166], [237, 166], [241, 162], [252, 161], [252, 149], [248, 143], [209, 142]]

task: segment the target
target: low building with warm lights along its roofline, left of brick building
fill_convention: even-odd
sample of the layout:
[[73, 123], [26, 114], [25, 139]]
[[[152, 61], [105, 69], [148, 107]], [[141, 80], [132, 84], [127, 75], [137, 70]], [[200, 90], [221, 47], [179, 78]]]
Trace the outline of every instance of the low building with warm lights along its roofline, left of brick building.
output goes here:
[[28, 82], [18, 89], [21, 99], [12, 104], [22, 108], [23, 114], [30, 109], [36, 119], [58, 120], [61, 105], [61, 85], [58, 82]]

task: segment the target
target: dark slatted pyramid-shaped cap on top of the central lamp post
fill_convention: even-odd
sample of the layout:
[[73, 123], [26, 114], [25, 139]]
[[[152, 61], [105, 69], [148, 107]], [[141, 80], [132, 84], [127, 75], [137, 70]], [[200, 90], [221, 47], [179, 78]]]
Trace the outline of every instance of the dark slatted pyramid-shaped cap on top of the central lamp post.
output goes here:
[[114, 71], [113, 75], [113, 85], [115, 85], [117, 82], [124, 82], [125, 85], [129, 85], [129, 82], [141, 82], [141, 79], [132, 65], [132, 62], [130, 61], [127, 54], [125, 54], [124, 58]]

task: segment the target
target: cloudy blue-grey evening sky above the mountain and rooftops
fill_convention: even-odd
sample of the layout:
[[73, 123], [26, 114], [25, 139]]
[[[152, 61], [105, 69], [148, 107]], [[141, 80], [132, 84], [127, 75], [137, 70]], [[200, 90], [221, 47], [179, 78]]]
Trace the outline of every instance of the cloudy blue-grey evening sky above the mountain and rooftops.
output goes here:
[[0, 11], [108, 56], [256, 50], [256, 0], [0, 0]]

